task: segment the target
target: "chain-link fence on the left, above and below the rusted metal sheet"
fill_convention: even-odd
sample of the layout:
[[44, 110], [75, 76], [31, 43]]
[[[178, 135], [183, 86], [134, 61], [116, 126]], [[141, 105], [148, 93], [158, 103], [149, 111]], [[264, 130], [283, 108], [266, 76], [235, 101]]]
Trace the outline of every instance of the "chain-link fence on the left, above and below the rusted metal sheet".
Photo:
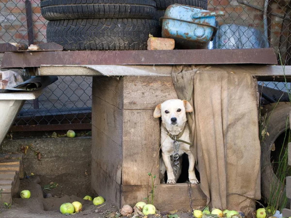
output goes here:
[[[45, 43], [47, 22], [41, 16], [40, 0], [0, 1], [0, 43]], [[37, 100], [26, 101], [12, 130], [90, 129], [91, 93], [91, 77], [58, 77]]]

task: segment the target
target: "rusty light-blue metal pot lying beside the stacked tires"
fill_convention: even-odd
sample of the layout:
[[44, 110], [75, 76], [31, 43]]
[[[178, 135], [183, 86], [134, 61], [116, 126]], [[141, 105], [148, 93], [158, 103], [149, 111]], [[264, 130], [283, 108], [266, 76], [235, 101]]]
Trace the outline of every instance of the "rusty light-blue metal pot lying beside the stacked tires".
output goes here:
[[215, 16], [224, 16], [224, 13], [182, 4], [170, 5], [161, 17], [162, 37], [175, 39], [176, 48], [207, 48], [217, 31]]

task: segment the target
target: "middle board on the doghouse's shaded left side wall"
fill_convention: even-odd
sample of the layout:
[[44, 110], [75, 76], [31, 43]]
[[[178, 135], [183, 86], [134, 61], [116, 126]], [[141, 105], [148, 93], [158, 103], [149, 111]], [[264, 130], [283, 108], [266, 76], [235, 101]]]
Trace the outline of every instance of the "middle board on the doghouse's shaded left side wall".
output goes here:
[[[92, 159], [117, 184], [121, 184], [122, 147], [92, 125]], [[92, 172], [93, 173], [93, 172]]]

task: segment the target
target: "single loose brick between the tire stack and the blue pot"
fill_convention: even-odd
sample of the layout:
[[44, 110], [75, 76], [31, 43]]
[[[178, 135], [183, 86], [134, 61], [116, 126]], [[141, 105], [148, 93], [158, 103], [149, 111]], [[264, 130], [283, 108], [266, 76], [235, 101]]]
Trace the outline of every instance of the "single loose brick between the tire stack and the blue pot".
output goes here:
[[173, 50], [174, 47], [174, 39], [149, 37], [147, 40], [147, 50]]

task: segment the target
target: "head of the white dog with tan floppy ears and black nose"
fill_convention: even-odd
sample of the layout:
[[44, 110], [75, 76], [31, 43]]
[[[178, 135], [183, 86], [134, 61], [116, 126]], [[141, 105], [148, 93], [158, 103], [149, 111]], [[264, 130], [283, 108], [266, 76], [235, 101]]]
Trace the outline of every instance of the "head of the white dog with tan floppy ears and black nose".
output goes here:
[[173, 126], [182, 127], [187, 121], [186, 112], [192, 112], [191, 104], [186, 100], [170, 99], [159, 104], [154, 117], [162, 117], [162, 123], [169, 130]]

